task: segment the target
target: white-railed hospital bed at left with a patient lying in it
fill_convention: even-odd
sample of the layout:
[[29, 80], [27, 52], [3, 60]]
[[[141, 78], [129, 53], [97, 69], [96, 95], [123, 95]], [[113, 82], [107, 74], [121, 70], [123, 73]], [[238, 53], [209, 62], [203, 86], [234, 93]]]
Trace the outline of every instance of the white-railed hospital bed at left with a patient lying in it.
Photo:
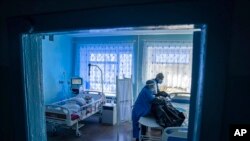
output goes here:
[[104, 104], [105, 95], [102, 92], [84, 91], [75, 97], [46, 105], [46, 123], [51, 125], [52, 132], [56, 132], [56, 127], [61, 126], [72, 128], [77, 136], [81, 136], [79, 129], [83, 124], [79, 124], [79, 121], [98, 112], [102, 113]]

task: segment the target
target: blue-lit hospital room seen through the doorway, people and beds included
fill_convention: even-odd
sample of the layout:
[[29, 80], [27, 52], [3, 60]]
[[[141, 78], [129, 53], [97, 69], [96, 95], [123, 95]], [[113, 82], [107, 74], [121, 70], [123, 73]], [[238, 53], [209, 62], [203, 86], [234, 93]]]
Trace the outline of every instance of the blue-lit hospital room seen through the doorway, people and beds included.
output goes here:
[[48, 141], [186, 141], [199, 31], [176, 25], [24, 36], [24, 46], [40, 47], [41, 134]]

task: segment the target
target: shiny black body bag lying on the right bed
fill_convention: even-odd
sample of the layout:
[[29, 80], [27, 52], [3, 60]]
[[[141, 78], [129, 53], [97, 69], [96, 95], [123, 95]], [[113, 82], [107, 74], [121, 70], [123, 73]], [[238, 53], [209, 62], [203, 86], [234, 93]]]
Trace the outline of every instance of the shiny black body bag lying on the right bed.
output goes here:
[[181, 126], [185, 120], [184, 114], [167, 100], [153, 102], [151, 113], [154, 115], [156, 122], [163, 128]]

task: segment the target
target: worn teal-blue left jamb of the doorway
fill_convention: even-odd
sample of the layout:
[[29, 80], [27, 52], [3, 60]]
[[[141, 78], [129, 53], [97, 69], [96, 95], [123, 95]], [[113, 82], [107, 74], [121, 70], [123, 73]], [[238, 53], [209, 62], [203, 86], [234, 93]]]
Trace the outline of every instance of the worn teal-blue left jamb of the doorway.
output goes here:
[[42, 37], [37, 34], [23, 35], [22, 52], [28, 140], [46, 141], [42, 92]]

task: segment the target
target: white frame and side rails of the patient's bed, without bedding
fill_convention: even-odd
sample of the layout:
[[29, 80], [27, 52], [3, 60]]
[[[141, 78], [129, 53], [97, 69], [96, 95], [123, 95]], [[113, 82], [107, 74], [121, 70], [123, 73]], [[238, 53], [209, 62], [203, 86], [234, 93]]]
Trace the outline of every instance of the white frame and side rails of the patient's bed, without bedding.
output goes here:
[[71, 119], [72, 113], [69, 109], [62, 107], [62, 103], [65, 103], [73, 98], [62, 100], [45, 106], [46, 123], [52, 126], [52, 132], [56, 132], [56, 127], [61, 126], [65, 128], [72, 128], [76, 131], [76, 136], [81, 136], [79, 129], [83, 124], [79, 124], [79, 121], [84, 120], [96, 113], [100, 113], [100, 119], [102, 114], [102, 106], [105, 104], [105, 95], [102, 92], [97, 91], [84, 91], [84, 96], [92, 96], [94, 101], [85, 104], [80, 107], [80, 110], [73, 113], [78, 118]]

